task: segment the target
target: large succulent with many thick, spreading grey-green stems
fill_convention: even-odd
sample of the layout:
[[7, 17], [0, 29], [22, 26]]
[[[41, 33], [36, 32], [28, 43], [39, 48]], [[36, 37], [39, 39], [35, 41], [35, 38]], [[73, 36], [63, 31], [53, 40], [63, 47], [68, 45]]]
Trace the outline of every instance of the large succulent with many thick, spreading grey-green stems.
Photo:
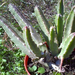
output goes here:
[[[65, 72], [62, 67], [63, 60], [69, 57], [75, 48], [75, 6], [71, 9], [64, 23], [64, 3], [63, 0], [59, 0], [55, 25], [50, 25], [41, 9], [35, 6], [34, 13], [45, 41], [42, 40], [40, 34], [36, 33], [36, 30], [15, 5], [9, 4], [8, 8], [22, 28], [23, 37], [22, 32], [18, 31], [1, 16], [0, 26], [3, 27], [15, 45], [19, 47], [23, 53], [40, 64], [46, 67], [52, 67], [58, 72]], [[54, 60], [55, 62], [53, 62]], [[60, 63], [56, 64], [58, 60]]]

